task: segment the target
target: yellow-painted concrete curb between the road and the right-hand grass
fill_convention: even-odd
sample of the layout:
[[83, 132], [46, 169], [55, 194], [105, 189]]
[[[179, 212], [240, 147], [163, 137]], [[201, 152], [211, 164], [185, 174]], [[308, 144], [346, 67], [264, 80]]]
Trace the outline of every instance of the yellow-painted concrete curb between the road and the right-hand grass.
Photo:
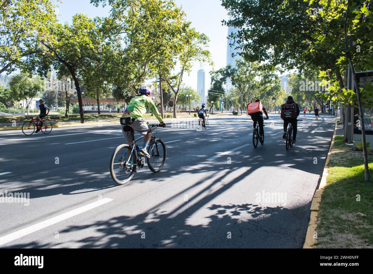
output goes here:
[[337, 122], [335, 122], [334, 127], [334, 133], [332, 142], [330, 143], [329, 152], [326, 157], [324, 171], [320, 180], [319, 188], [316, 189], [315, 194], [313, 195], [312, 202], [311, 202], [311, 216], [310, 216], [310, 222], [308, 223], [308, 229], [307, 233], [305, 235], [304, 245], [303, 248], [314, 248], [314, 245], [317, 243], [317, 237], [314, 237], [314, 235], [317, 235], [316, 228], [317, 228], [317, 217], [319, 215], [319, 205], [322, 197], [322, 193], [324, 191], [324, 188], [326, 186], [326, 177], [328, 176], [328, 169], [329, 169], [329, 161], [330, 161], [330, 154], [332, 152], [333, 144], [335, 135], [337, 133]]

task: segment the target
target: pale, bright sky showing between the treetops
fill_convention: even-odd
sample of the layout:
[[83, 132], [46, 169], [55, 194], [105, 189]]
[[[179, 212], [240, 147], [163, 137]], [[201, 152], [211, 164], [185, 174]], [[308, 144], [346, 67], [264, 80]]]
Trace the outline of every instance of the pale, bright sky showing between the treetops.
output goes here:
[[[222, 26], [221, 21], [228, 19], [227, 11], [221, 6], [220, 0], [175, 0], [176, 4], [185, 11], [187, 18], [192, 22], [192, 26], [199, 32], [203, 32], [210, 38], [209, 50], [214, 62], [214, 68], [226, 66], [226, 49], [228, 28]], [[71, 18], [76, 13], [83, 13], [90, 18], [95, 16], [109, 15], [109, 7], [95, 7], [90, 4], [90, 0], [63, 0], [59, 3], [59, 15], [57, 18], [61, 23], [71, 22]], [[206, 71], [206, 89], [210, 87], [209, 72], [213, 67], [203, 64]], [[195, 62], [194, 67], [188, 76], [184, 75], [184, 83], [197, 89], [197, 71], [200, 63]]]

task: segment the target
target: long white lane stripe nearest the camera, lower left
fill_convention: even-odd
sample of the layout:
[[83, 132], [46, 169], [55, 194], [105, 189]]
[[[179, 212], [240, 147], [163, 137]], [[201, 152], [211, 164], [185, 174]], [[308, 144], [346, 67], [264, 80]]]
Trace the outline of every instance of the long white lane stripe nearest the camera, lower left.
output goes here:
[[95, 201], [91, 204], [84, 205], [82, 207], [76, 208], [75, 210], [63, 213], [61, 215], [58, 215], [56, 217], [50, 218], [48, 220], [42, 221], [38, 224], [34, 224], [32, 226], [26, 227], [25, 229], [18, 230], [16, 232], [10, 233], [6, 236], [3, 236], [0, 238], [0, 246], [4, 245], [6, 243], [12, 242], [16, 239], [19, 239], [21, 237], [24, 237], [28, 234], [34, 233], [38, 230], [44, 229], [48, 226], [51, 226], [53, 224], [56, 224], [60, 221], [66, 220], [70, 217], [73, 217], [75, 215], [81, 214], [85, 211], [91, 210], [95, 207], [99, 207], [100, 205], [106, 204], [107, 202], [113, 201], [113, 199], [110, 198], [104, 198], [98, 201]]

